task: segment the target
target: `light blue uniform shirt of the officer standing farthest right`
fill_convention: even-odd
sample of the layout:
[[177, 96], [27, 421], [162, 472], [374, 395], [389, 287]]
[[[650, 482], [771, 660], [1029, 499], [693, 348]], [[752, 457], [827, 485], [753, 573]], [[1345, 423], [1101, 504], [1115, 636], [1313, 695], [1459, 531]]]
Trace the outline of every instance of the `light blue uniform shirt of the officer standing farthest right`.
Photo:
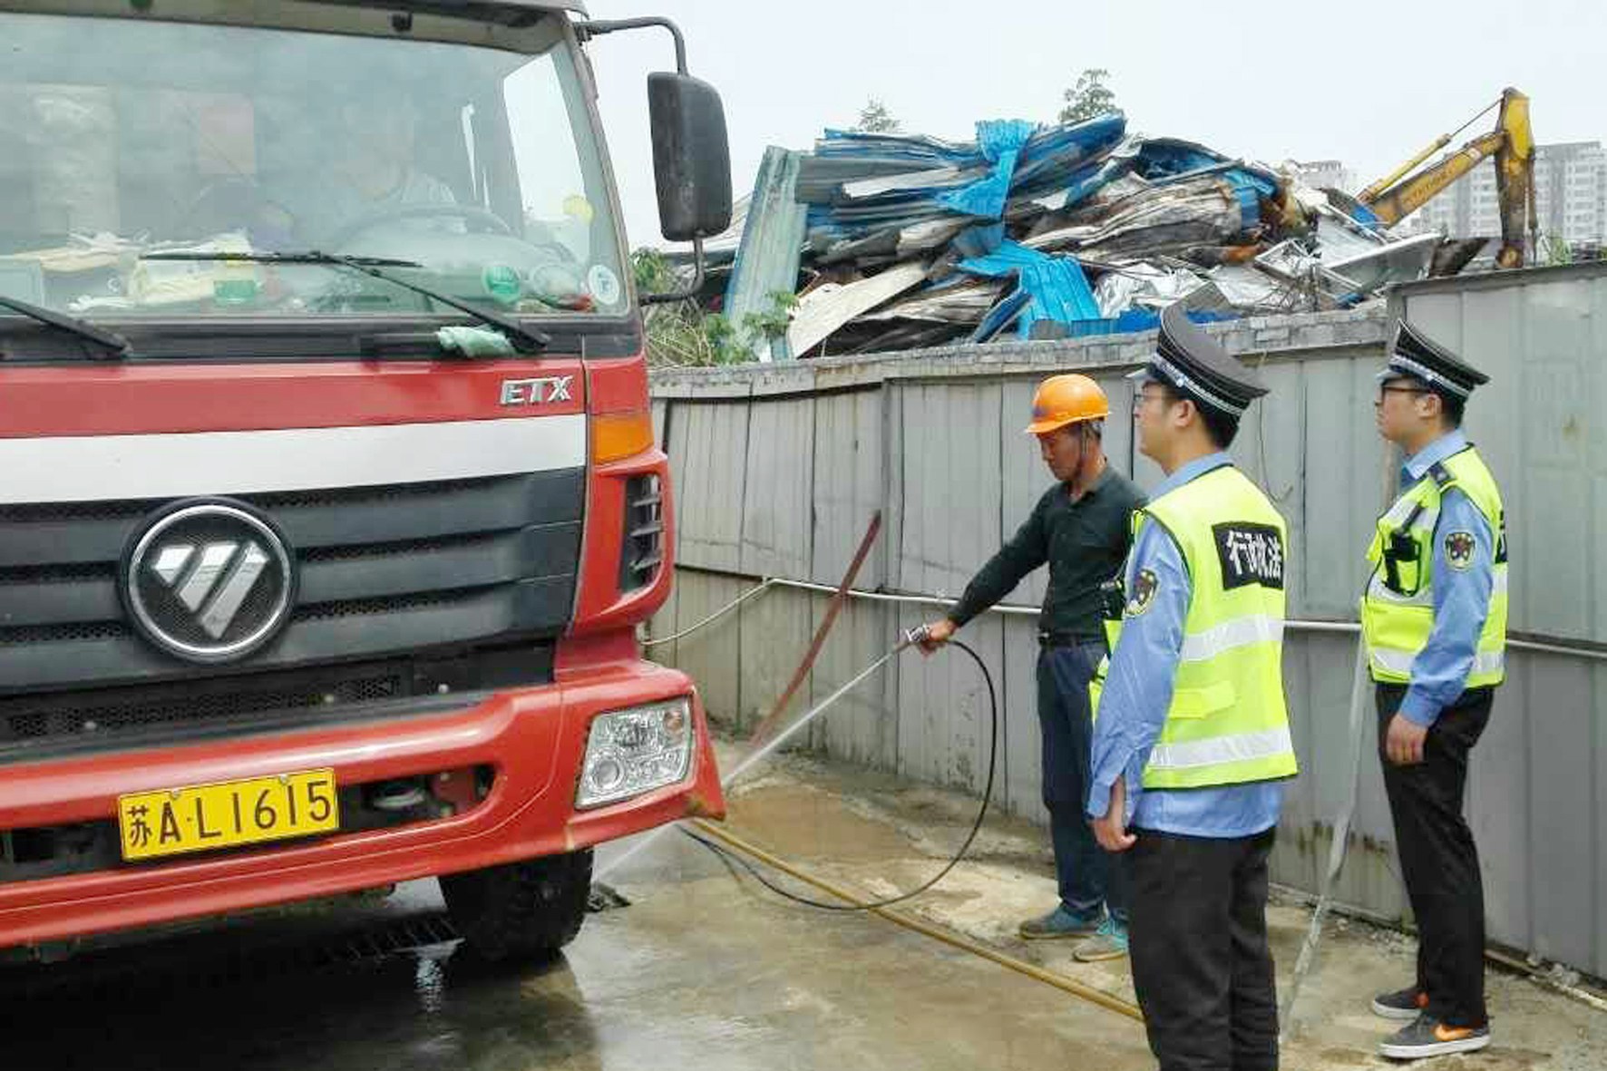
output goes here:
[[[1401, 466], [1401, 490], [1429, 474], [1429, 470], [1467, 449], [1467, 437], [1453, 431], [1435, 439]], [[1445, 536], [1474, 534], [1474, 560], [1464, 569], [1445, 561]], [[1474, 667], [1478, 634], [1490, 616], [1490, 590], [1495, 587], [1495, 532], [1474, 500], [1451, 487], [1440, 500], [1440, 518], [1433, 526], [1433, 629], [1429, 643], [1411, 664], [1411, 683], [1400, 712], [1417, 725], [1433, 725], [1440, 711], [1462, 695], [1467, 674]]]

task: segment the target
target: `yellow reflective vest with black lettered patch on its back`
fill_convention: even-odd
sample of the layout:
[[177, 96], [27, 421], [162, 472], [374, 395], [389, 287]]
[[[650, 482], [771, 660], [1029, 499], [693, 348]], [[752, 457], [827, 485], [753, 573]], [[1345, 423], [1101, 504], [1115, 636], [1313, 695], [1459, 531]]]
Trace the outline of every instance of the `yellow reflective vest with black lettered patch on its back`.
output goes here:
[[[1223, 465], [1135, 513], [1135, 542], [1144, 524], [1160, 524], [1176, 540], [1192, 589], [1172, 706], [1144, 765], [1144, 788], [1294, 777], [1300, 770], [1282, 679], [1284, 518], [1244, 473]], [[1154, 582], [1143, 571], [1130, 577], [1123, 619], [1147, 611]], [[1112, 651], [1118, 632], [1120, 622], [1107, 629]], [[1090, 687], [1096, 717], [1107, 666]]]

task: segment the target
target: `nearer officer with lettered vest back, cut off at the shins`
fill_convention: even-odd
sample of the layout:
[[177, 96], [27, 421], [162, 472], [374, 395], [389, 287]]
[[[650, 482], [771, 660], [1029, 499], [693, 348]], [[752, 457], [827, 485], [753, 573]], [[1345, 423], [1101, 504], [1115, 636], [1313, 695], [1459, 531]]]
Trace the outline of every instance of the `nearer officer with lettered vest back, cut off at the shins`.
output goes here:
[[[1266, 860], [1297, 774], [1284, 708], [1284, 518], [1226, 453], [1260, 378], [1180, 306], [1135, 399], [1167, 478], [1135, 515], [1096, 680], [1088, 815], [1127, 852], [1133, 986], [1160, 1071], [1271, 1071]], [[1112, 629], [1114, 630], [1114, 629]]]

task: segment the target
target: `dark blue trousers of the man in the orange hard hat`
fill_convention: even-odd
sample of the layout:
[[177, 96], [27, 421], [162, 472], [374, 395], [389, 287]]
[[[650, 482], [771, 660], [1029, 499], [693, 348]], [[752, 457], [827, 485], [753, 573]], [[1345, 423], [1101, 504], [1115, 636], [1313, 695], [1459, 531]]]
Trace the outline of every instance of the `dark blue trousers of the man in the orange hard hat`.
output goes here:
[[1115, 918], [1127, 921], [1125, 867], [1099, 847], [1086, 817], [1094, 732], [1088, 682], [1104, 653], [1104, 643], [1088, 640], [1045, 646], [1038, 654], [1043, 806], [1049, 812], [1061, 904], [1085, 915], [1104, 904]]

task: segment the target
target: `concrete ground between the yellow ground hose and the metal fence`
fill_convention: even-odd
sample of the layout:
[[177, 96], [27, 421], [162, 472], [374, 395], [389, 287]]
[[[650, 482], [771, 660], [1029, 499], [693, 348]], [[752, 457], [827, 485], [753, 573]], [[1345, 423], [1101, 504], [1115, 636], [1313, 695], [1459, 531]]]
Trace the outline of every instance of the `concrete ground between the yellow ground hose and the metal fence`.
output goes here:
[[[956, 793], [804, 756], [783, 756], [742, 786], [733, 823], [755, 831], [749, 839], [810, 873], [866, 896], [887, 896], [930, 875], [961, 843], [974, 814], [975, 801]], [[990, 817], [966, 864], [902, 910], [1045, 970], [1133, 999], [1125, 960], [1077, 963], [1072, 942], [1028, 942], [1016, 934], [1022, 918], [1053, 905], [1053, 857], [1046, 833], [1019, 819]], [[1274, 892], [1268, 931], [1281, 995], [1287, 992], [1310, 918], [1305, 902]], [[1602, 1055], [1607, 1053], [1607, 1013], [1499, 970], [1486, 975], [1495, 1036], [1490, 1048], [1413, 1065], [1377, 1057], [1377, 1042], [1398, 1024], [1372, 1016], [1368, 1005], [1372, 994], [1411, 981], [1414, 957], [1414, 939], [1331, 915], [1315, 970], [1300, 992], [1282, 1066], [1295, 1071], [1607, 1068], [1607, 1057]], [[1062, 1013], [1077, 1023], [1093, 1021], [1090, 1016], [1110, 1020], [1118, 1029], [1123, 1023], [1073, 997], [1064, 997], [1064, 1005]], [[1131, 1032], [1143, 1040], [1138, 1024], [1131, 1024]], [[1062, 1066], [1099, 1066], [1085, 1065], [1080, 1055], [1069, 1047], [1061, 1055]], [[1144, 1060], [1138, 1066], [1152, 1068], [1154, 1061]]]

